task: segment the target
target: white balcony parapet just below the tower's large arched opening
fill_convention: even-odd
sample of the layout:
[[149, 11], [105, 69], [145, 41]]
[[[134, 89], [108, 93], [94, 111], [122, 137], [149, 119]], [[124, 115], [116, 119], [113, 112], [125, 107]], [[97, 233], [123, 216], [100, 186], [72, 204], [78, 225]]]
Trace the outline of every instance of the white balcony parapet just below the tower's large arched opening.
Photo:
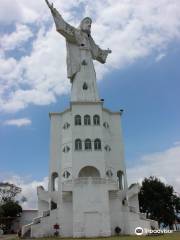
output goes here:
[[109, 178], [100, 177], [78, 177], [72, 180], [66, 180], [62, 183], [62, 191], [73, 191], [77, 185], [104, 185], [108, 191], [118, 190], [118, 183]]

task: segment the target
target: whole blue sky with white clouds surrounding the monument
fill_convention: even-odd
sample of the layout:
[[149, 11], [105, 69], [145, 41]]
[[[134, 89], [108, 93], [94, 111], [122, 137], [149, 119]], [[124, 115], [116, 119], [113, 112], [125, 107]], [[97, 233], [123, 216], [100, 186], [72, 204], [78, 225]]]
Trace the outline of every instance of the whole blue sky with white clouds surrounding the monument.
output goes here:
[[[112, 49], [107, 64], [95, 66], [105, 107], [124, 109], [128, 182], [155, 175], [180, 192], [178, 0], [104, 0], [103, 10], [98, 0], [54, 3], [73, 25], [92, 16], [96, 42]], [[30, 199], [24, 207], [35, 207], [36, 185], [48, 175], [48, 114], [69, 105], [65, 42], [43, 1], [0, 7], [7, 9], [0, 18], [0, 180], [21, 185]]]

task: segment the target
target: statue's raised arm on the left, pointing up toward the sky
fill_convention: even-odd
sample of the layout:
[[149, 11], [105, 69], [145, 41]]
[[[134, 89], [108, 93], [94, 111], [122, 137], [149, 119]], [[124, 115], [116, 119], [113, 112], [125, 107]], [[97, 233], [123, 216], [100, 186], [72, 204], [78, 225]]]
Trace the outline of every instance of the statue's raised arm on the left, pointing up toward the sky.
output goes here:
[[48, 0], [45, 0], [49, 9], [51, 10], [54, 22], [56, 24], [56, 30], [62, 34], [68, 41], [75, 42], [75, 28], [68, 24], [61, 16], [61, 14], [54, 8], [53, 3], [50, 4]]

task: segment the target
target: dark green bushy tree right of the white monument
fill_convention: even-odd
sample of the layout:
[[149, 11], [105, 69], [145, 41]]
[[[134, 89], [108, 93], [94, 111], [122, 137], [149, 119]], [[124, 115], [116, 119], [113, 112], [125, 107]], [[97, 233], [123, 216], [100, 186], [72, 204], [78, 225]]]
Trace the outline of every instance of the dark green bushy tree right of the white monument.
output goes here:
[[145, 178], [139, 192], [140, 211], [164, 226], [172, 227], [180, 213], [180, 198], [170, 185], [156, 177]]

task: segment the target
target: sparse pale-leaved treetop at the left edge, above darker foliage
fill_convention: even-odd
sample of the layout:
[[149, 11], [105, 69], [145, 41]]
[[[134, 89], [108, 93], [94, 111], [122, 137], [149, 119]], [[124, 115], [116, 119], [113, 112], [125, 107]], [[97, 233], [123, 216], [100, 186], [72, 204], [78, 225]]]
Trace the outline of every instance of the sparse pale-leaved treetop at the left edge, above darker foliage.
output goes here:
[[14, 201], [16, 195], [20, 192], [20, 187], [8, 182], [0, 182], [0, 203]]

